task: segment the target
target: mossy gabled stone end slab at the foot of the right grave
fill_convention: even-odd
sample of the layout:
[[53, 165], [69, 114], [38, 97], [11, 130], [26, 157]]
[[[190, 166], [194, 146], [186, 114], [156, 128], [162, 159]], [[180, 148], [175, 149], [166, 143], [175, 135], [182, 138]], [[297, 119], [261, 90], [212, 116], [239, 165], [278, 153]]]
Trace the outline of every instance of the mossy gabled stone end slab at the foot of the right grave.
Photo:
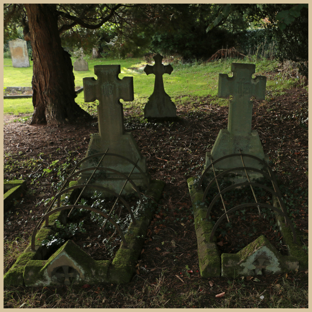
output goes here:
[[263, 235], [236, 254], [221, 255], [221, 275], [225, 277], [283, 274], [298, 268], [297, 258], [280, 255]]

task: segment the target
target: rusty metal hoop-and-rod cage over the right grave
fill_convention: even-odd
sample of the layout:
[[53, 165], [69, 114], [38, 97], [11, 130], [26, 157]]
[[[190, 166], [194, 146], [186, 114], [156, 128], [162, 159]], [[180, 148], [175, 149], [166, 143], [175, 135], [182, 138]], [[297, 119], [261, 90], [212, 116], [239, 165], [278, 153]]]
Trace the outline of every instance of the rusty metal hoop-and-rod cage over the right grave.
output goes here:
[[[258, 207], [259, 215], [261, 215], [260, 207], [266, 207], [266, 208], [272, 209], [273, 211], [279, 213], [281, 216], [284, 217], [285, 224], [287, 226], [290, 226], [292, 234], [293, 234], [293, 241], [294, 241], [294, 243], [296, 243], [296, 240], [297, 240], [296, 239], [296, 232], [295, 232], [294, 226], [292, 225], [292, 223], [291, 223], [291, 221], [290, 221], [290, 219], [289, 219], [289, 217], [287, 215], [287, 210], [286, 210], [285, 204], [284, 204], [284, 202], [282, 200], [282, 197], [281, 197], [280, 190], [279, 190], [278, 185], [277, 185], [277, 180], [276, 180], [275, 175], [272, 172], [271, 168], [268, 166], [268, 164], [264, 160], [262, 160], [262, 159], [260, 159], [260, 158], [258, 158], [256, 156], [253, 156], [253, 155], [243, 154], [243, 153], [241, 153], [241, 149], [239, 149], [239, 152], [240, 152], [239, 154], [230, 154], [230, 155], [218, 158], [217, 160], [214, 160], [214, 161], [212, 161], [212, 158], [210, 158], [211, 159], [211, 164], [202, 173], [202, 176], [201, 176], [201, 178], [200, 178], [200, 180], [198, 182], [198, 188], [200, 188], [202, 186], [202, 183], [203, 183], [203, 180], [205, 178], [205, 175], [207, 175], [207, 173], [212, 169], [213, 174], [214, 174], [214, 178], [212, 178], [212, 180], [208, 183], [207, 187], [205, 188], [205, 191], [204, 191], [204, 194], [203, 194], [203, 198], [202, 198], [202, 202], [206, 201], [206, 197], [207, 197], [208, 191], [209, 191], [209, 189], [211, 188], [211, 186], [214, 183], [217, 184], [217, 188], [218, 188], [219, 193], [210, 202], [210, 205], [209, 205], [209, 207], [207, 209], [206, 218], [209, 218], [210, 213], [212, 211], [212, 207], [217, 202], [217, 200], [219, 198], [221, 198], [221, 200], [222, 200], [223, 208], [224, 208], [224, 211], [225, 211], [225, 213], [219, 218], [219, 220], [214, 225], [214, 227], [212, 229], [212, 232], [211, 232], [210, 240], [212, 240], [212, 238], [214, 236], [214, 233], [216, 232], [217, 227], [222, 222], [222, 220], [225, 217], [227, 217], [227, 220], [229, 221], [229, 217], [228, 217], [229, 213], [234, 212], [234, 211], [239, 210], [239, 209], [242, 209], [244, 207]], [[241, 161], [242, 161], [242, 167], [231, 168], [231, 169], [228, 169], [228, 170], [222, 171], [221, 173], [216, 174], [215, 164], [218, 163], [219, 161], [222, 161], [222, 160], [224, 160], [226, 158], [230, 158], [230, 157], [240, 157]], [[257, 168], [246, 167], [243, 157], [249, 157], [249, 158], [256, 159], [257, 161], [259, 161], [259, 164], [263, 165], [263, 169], [261, 170], [261, 169], [257, 169]], [[267, 187], [264, 184], [251, 182], [251, 179], [250, 179], [250, 177], [248, 175], [248, 171], [249, 172], [253, 171], [253, 172], [261, 173], [261, 175], [264, 178], [267, 178], [272, 183], [273, 189]], [[246, 174], [246, 178], [247, 178], [248, 182], [236, 183], [236, 184], [234, 183], [233, 185], [231, 185], [231, 186], [229, 186], [227, 188], [224, 188], [223, 190], [220, 190], [218, 179], [224, 177], [225, 175], [227, 175], [228, 173], [231, 173], [231, 172], [244, 172]], [[236, 207], [232, 207], [231, 209], [227, 210], [226, 206], [225, 206], [225, 201], [224, 201], [222, 195], [225, 194], [226, 192], [234, 189], [234, 188], [246, 187], [246, 186], [250, 186], [252, 194], [253, 194], [253, 197], [255, 199], [255, 202], [241, 204], [241, 205], [238, 205]], [[260, 203], [258, 201], [257, 197], [256, 197], [256, 194], [255, 194], [255, 191], [254, 191], [254, 187], [262, 188], [262, 189], [265, 189], [265, 190], [269, 191], [272, 194], [272, 197], [275, 196], [277, 198], [277, 200], [279, 202], [279, 205], [280, 205], [280, 208], [276, 208], [273, 205]]]

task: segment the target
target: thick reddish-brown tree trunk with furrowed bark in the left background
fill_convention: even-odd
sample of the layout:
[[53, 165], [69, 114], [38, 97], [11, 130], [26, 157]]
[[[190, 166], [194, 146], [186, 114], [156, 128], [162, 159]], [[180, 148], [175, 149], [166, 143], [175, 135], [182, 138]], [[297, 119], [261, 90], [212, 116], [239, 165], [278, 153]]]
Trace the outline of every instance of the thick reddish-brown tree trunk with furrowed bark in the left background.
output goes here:
[[55, 4], [25, 4], [32, 45], [33, 76], [30, 124], [64, 124], [89, 119], [76, 104], [70, 54], [61, 46]]

